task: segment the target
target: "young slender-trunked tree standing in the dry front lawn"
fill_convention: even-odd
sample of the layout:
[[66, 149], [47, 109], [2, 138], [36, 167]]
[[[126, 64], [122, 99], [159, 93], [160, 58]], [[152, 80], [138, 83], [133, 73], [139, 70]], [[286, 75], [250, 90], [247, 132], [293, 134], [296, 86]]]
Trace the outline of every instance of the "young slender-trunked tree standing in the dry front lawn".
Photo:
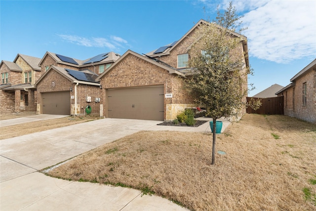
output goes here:
[[186, 87], [195, 102], [206, 108], [206, 115], [213, 119], [212, 165], [215, 164], [216, 120], [240, 115], [248, 93], [247, 76], [252, 70], [247, 67], [242, 44], [246, 37], [235, 7], [221, 13], [216, 20], [200, 24], [190, 49], [191, 76], [185, 79]]

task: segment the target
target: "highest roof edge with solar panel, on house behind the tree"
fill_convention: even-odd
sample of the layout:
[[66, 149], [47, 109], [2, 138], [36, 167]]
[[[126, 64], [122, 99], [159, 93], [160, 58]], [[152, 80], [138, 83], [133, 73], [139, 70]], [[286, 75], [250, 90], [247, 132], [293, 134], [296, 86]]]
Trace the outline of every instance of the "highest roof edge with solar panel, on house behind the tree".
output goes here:
[[[180, 40], [178, 41], [175, 41], [175, 42], [172, 42], [170, 44], [167, 44], [165, 46], [162, 46], [162, 47], [159, 47], [158, 49], [155, 49], [151, 52], [148, 52], [146, 53], [146, 55], [149, 55], [149, 56], [153, 56], [153, 57], [156, 57], [156, 56], [163, 56], [163, 55], [168, 55], [170, 54], [170, 51], [172, 51], [179, 43], [181, 43], [185, 38], [187, 38], [189, 36], [189, 34], [194, 31], [198, 25], [200, 24], [215, 24], [215, 23], [210, 23], [208, 21], [205, 21], [203, 19], [199, 20], [197, 22], [197, 24], [195, 24]], [[221, 26], [215, 24], [218, 28], [222, 28]], [[235, 35], [236, 37], [239, 37], [243, 40], [243, 50], [245, 52], [245, 60], [246, 60], [246, 65], [247, 67], [249, 67], [249, 59], [248, 59], [248, 46], [247, 46], [247, 38], [243, 35], [240, 35], [236, 32], [233, 32], [233, 31], [229, 31], [231, 34]], [[187, 49], [189, 50], [191, 48], [191, 45], [187, 47]]]

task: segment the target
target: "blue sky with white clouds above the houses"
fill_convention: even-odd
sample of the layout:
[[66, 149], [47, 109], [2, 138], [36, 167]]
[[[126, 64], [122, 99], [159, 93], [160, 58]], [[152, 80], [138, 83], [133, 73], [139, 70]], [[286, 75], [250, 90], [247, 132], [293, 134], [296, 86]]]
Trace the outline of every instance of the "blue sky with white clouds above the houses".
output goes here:
[[[84, 60], [100, 53], [147, 53], [179, 40], [228, 0], [0, 0], [0, 60], [46, 51]], [[316, 58], [315, 0], [233, 0], [244, 15], [255, 90], [286, 86]], [[205, 9], [203, 9], [205, 8]]]

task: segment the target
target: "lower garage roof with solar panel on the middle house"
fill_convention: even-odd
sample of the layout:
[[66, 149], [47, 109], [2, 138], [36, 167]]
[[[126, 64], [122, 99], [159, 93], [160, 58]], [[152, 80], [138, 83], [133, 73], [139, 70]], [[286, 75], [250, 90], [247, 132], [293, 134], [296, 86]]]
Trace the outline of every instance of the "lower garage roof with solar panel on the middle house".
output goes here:
[[89, 70], [79, 71], [79, 70], [66, 69], [66, 68], [58, 67], [58, 66], [50, 66], [50, 68], [40, 77], [40, 79], [34, 84], [34, 86], [37, 86], [40, 83], [40, 81], [51, 70], [55, 70], [55, 71], [59, 72], [61, 75], [63, 75], [66, 79], [68, 79], [72, 83], [90, 84], [90, 85], [97, 85], [97, 86], [100, 85], [99, 82], [95, 82], [97, 75], [93, 74]]

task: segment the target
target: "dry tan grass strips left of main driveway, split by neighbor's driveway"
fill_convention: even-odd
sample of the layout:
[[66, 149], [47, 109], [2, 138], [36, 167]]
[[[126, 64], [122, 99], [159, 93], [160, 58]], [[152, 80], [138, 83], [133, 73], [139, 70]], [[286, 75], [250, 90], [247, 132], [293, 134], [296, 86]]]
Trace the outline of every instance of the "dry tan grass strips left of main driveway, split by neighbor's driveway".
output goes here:
[[[1, 120], [15, 119], [20, 117], [28, 117], [35, 115], [32, 112], [23, 113], [12, 113], [12, 114], [1, 114]], [[96, 116], [86, 115], [77, 117], [64, 117], [53, 120], [42, 120], [31, 123], [23, 123], [13, 126], [1, 127], [0, 128], [0, 140], [6, 138], [12, 138], [16, 136], [26, 135], [34, 132], [40, 132], [48, 129], [65, 127], [70, 125], [75, 125], [79, 123], [84, 123], [87, 121], [100, 119]]]

